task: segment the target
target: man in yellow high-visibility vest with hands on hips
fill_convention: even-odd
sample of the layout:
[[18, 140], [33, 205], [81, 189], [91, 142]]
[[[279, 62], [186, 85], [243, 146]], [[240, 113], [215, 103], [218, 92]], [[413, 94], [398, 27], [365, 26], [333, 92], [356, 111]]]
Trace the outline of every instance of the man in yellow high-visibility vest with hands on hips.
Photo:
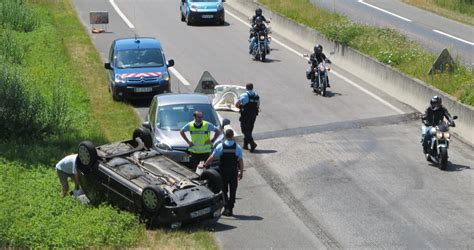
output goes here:
[[[193, 113], [194, 121], [184, 125], [179, 132], [181, 137], [188, 143], [188, 151], [191, 153], [190, 168], [196, 171], [197, 165], [200, 161], [205, 161], [212, 151], [212, 144], [216, 141], [217, 137], [221, 134], [219, 128], [213, 124], [204, 121], [203, 115], [200, 111]], [[191, 140], [188, 139], [185, 132], [189, 131], [191, 134]], [[210, 132], [214, 132], [214, 137], [211, 140]]]

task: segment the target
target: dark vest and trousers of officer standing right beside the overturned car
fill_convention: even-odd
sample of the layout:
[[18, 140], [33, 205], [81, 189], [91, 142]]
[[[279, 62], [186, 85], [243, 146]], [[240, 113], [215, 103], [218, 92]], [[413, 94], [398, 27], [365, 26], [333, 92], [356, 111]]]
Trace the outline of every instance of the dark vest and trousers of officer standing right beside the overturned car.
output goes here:
[[[222, 176], [222, 192], [224, 193], [225, 208], [233, 209], [235, 204], [235, 194], [238, 183], [238, 163], [236, 155], [237, 143], [226, 146], [222, 143], [223, 154], [220, 158], [219, 170]], [[230, 191], [230, 192], [229, 192]]]

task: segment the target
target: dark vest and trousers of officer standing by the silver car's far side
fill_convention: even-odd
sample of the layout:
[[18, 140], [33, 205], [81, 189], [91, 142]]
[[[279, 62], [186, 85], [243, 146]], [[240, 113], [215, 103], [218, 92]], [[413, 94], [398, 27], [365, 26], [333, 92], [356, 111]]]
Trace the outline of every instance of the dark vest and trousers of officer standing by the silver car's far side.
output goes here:
[[250, 94], [247, 92], [247, 94], [249, 95], [249, 102], [243, 106], [240, 115], [240, 130], [244, 134], [244, 146], [255, 143], [252, 133], [258, 115], [258, 102], [260, 99], [255, 93]]

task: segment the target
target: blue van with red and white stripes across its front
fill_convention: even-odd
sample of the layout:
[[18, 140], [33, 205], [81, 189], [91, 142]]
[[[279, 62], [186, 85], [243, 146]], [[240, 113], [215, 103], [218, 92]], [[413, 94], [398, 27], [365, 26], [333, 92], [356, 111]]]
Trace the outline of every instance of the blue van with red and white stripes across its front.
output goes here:
[[171, 90], [168, 67], [161, 44], [155, 38], [122, 38], [112, 42], [109, 62], [109, 91], [115, 101], [151, 98]]

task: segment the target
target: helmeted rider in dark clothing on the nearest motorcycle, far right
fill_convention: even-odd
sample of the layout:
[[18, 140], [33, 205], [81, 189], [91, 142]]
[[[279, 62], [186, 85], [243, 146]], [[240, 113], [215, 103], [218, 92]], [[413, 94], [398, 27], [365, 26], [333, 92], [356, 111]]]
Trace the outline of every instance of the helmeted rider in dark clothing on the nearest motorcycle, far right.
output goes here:
[[430, 106], [426, 109], [421, 120], [423, 126], [421, 127], [421, 142], [423, 145], [423, 153], [429, 154], [429, 141], [431, 140], [431, 128], [440, 124], [446, 117], [450, 126], [455, 127], [454, 119], [449, 114], [448, 110], [441, 104], [442, 100], [439, 96], [433, 96], [430, 100]]

